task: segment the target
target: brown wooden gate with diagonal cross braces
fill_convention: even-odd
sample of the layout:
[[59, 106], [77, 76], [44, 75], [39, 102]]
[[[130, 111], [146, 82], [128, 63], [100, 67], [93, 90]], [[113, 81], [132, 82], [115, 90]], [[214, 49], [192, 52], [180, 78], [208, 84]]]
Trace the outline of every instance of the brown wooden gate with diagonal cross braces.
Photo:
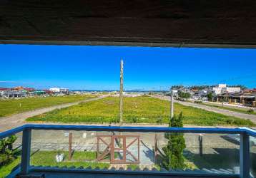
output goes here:
[[[128, 149], [136, 143], [134, 154]], [[102, 145], [104, 147], [101, 147]], [[109, 161], [111, 164], [139, 164], [139, 136], [97, 135], [97, 161]]]

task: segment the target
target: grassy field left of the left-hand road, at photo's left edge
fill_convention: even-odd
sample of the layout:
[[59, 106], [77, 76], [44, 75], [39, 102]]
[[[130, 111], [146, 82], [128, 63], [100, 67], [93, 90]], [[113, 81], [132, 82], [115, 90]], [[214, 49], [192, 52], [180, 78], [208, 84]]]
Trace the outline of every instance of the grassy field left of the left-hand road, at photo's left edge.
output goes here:
[[79, 100], [92, 98], [92, 95], [67, 95], [67, 96], [50, 96], [38, 98], [23, 98], [12, 100], [0, 100], [0, 117], [35, 110], [38, 108], [46, 108], [53, 105], [63, 103], [72, 103]]

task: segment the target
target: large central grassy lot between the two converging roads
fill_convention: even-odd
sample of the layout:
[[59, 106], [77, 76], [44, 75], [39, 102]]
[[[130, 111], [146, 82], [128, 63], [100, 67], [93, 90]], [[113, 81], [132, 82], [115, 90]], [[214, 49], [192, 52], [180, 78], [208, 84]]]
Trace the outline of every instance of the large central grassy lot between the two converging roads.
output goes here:
[[[215, 112], [187, 107], [174, 103], [174, 112], [183, 112], [186, 125], [247, 125], [250, 120], [226, 116]], [[81, 103], [69, 108], [54, 110], [27, 119], [29, 122], [118, 122], [119, 98], [109, 97], [89, 103]], [[157, 98], [124, 98], [124, 122], [127, 123], [167, 123], [169, 102]]]

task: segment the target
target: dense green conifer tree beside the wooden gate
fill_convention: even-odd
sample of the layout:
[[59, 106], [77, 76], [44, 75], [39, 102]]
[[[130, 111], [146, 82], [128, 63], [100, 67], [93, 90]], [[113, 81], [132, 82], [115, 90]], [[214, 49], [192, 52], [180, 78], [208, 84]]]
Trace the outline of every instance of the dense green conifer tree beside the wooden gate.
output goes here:
[[[169, 127], [183, 127], [182, 123], [182, 112], [179, 116], [172, 117], [169, 122]], [[162, 161], [162, 166], [169, 169], [183, 169], [184, 168], [184, 157], [183, 150], [186, 147], [185, 140], [182, 133], [166, 133], [164, 137], [167, 138], [167, 146], [163, 147], [164, 160]]]

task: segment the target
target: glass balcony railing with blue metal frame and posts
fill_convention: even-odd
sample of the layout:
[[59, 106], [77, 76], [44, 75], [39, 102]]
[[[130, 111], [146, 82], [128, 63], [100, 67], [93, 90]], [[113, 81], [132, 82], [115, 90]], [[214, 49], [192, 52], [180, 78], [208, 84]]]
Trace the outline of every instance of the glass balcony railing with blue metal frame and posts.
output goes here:
[[256, 141], [247, 128], [24, 125], [21, 174], [36, 171], [118, 172], [255, 177]]

